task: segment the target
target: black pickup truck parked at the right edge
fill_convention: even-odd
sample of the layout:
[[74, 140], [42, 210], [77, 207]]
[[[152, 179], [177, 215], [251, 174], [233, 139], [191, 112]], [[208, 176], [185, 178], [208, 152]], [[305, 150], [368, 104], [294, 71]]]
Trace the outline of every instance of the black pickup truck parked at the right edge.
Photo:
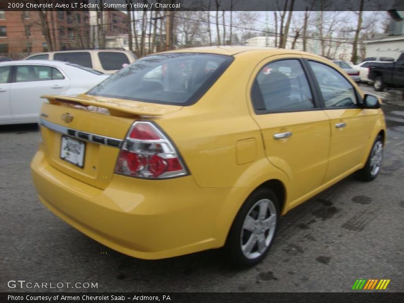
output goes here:
[[373, 63], [369, 67], [369, 80], [375, 81], [376, 91], [383, 91], [385, 86], [404, 87], [404, 53], [392, 63]]

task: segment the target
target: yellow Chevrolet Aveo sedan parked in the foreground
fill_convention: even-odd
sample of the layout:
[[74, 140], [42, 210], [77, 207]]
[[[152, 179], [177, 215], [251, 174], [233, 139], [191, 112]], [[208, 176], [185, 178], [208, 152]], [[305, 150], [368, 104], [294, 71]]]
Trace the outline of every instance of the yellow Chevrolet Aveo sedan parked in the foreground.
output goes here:
[[379, 100], [308, 53], [185, 49], [86, 94], [45, 97], [31, 164], [40, 201], [137, 258], [223, 247], [233, 264], [255, 265], [281, 215], [380, 170]]

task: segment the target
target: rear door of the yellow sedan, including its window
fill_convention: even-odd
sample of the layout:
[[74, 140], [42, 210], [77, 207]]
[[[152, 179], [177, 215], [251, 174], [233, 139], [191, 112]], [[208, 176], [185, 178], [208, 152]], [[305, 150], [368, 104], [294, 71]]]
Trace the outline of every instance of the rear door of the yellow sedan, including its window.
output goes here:
[[293, 205], [322, 184], [330, 144], [329, 118], [315, 101], [312, 80], [300, 58], [271, 57], [257, 67], [254, 77], [253, 117], [269, 162], [293, 184]]

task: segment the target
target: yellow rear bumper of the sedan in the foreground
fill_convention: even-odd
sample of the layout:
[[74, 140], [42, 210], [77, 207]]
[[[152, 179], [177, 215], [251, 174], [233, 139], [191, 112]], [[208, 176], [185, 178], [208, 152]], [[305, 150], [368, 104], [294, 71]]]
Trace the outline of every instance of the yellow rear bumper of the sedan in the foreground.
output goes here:
[[[247, 188], [201, 188], [191, 176], [140, 180], [114, 175], [102, 190], [50, 166], [41, 148], [31, 163], [40, 201], [82, 233], [123, 254], [162, 259], [223, 246]], [[226, 199], [237, 197], [231, 209]]]

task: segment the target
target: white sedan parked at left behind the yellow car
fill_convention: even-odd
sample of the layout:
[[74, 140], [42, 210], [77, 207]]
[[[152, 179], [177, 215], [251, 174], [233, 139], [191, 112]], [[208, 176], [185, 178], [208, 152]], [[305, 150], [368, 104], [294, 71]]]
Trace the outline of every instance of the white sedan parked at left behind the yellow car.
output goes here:
[[44, 94], [76, 95], [110, 75], [59, 61], [0, 63], [0, 125], [36, 123]]

